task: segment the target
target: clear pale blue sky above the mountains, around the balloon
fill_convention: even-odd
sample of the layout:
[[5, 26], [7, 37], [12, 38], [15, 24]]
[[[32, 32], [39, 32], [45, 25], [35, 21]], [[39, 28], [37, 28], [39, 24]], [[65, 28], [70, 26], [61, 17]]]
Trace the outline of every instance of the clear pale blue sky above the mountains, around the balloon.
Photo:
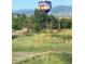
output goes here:
[[[12, 10], [34, 9], [40, 0], [12, 0]], [[55, 5], [72, 5], [72, 0], [51, 0]]]

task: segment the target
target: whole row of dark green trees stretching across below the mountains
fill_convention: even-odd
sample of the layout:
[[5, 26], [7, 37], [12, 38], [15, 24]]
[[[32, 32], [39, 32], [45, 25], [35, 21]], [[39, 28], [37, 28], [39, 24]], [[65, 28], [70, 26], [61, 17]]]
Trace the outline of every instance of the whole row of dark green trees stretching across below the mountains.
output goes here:
[[12, 28], [15, 30], [28, 28], [36, 31], [42, 29], [72, 28], [72, 20], [55, 17], [54, 15], [47, 15], [36, 10], [34, 14], [31, 16], [27, 16], [26, 14], [13, 15]]

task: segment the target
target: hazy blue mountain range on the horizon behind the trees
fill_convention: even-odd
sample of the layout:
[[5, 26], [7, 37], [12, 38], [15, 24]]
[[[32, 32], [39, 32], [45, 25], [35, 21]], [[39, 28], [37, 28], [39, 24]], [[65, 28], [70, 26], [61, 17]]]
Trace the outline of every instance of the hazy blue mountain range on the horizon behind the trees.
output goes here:
[[[17, 11], [13, 11], [12, 13], [25, 13], [25, 14], [33, 14], [34, 10], [27, 10], [27, 9], [22, 9]], [[52, 8], [49, 11], [49, 14], [55, 14], [55, 15], [71, 15], [72, 14], [72, 7], [70, 5], [56, 5]]]

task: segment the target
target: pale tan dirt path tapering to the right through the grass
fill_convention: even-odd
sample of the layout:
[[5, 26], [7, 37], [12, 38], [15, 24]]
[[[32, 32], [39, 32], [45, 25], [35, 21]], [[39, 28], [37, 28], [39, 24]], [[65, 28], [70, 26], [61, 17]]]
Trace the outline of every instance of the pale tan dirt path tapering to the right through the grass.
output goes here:
[[13, 59], [12, 62], [13, 64], [17, 63], [18, 61], [24, 61], [26, 59], [31, 59], [37, 55], [42, 55], [46, 53], [60, 53], [62, 51], [45, 51], [45, 52], [13, 52]]

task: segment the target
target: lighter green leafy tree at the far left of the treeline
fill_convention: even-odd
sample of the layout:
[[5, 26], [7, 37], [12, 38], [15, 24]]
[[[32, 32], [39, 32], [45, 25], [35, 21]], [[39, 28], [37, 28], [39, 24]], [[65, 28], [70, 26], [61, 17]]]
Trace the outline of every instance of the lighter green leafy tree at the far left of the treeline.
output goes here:
[[29, 17], [26, 14], [16, 14], [12, 16], [12, 28], [22, 29], [29, 26]]

